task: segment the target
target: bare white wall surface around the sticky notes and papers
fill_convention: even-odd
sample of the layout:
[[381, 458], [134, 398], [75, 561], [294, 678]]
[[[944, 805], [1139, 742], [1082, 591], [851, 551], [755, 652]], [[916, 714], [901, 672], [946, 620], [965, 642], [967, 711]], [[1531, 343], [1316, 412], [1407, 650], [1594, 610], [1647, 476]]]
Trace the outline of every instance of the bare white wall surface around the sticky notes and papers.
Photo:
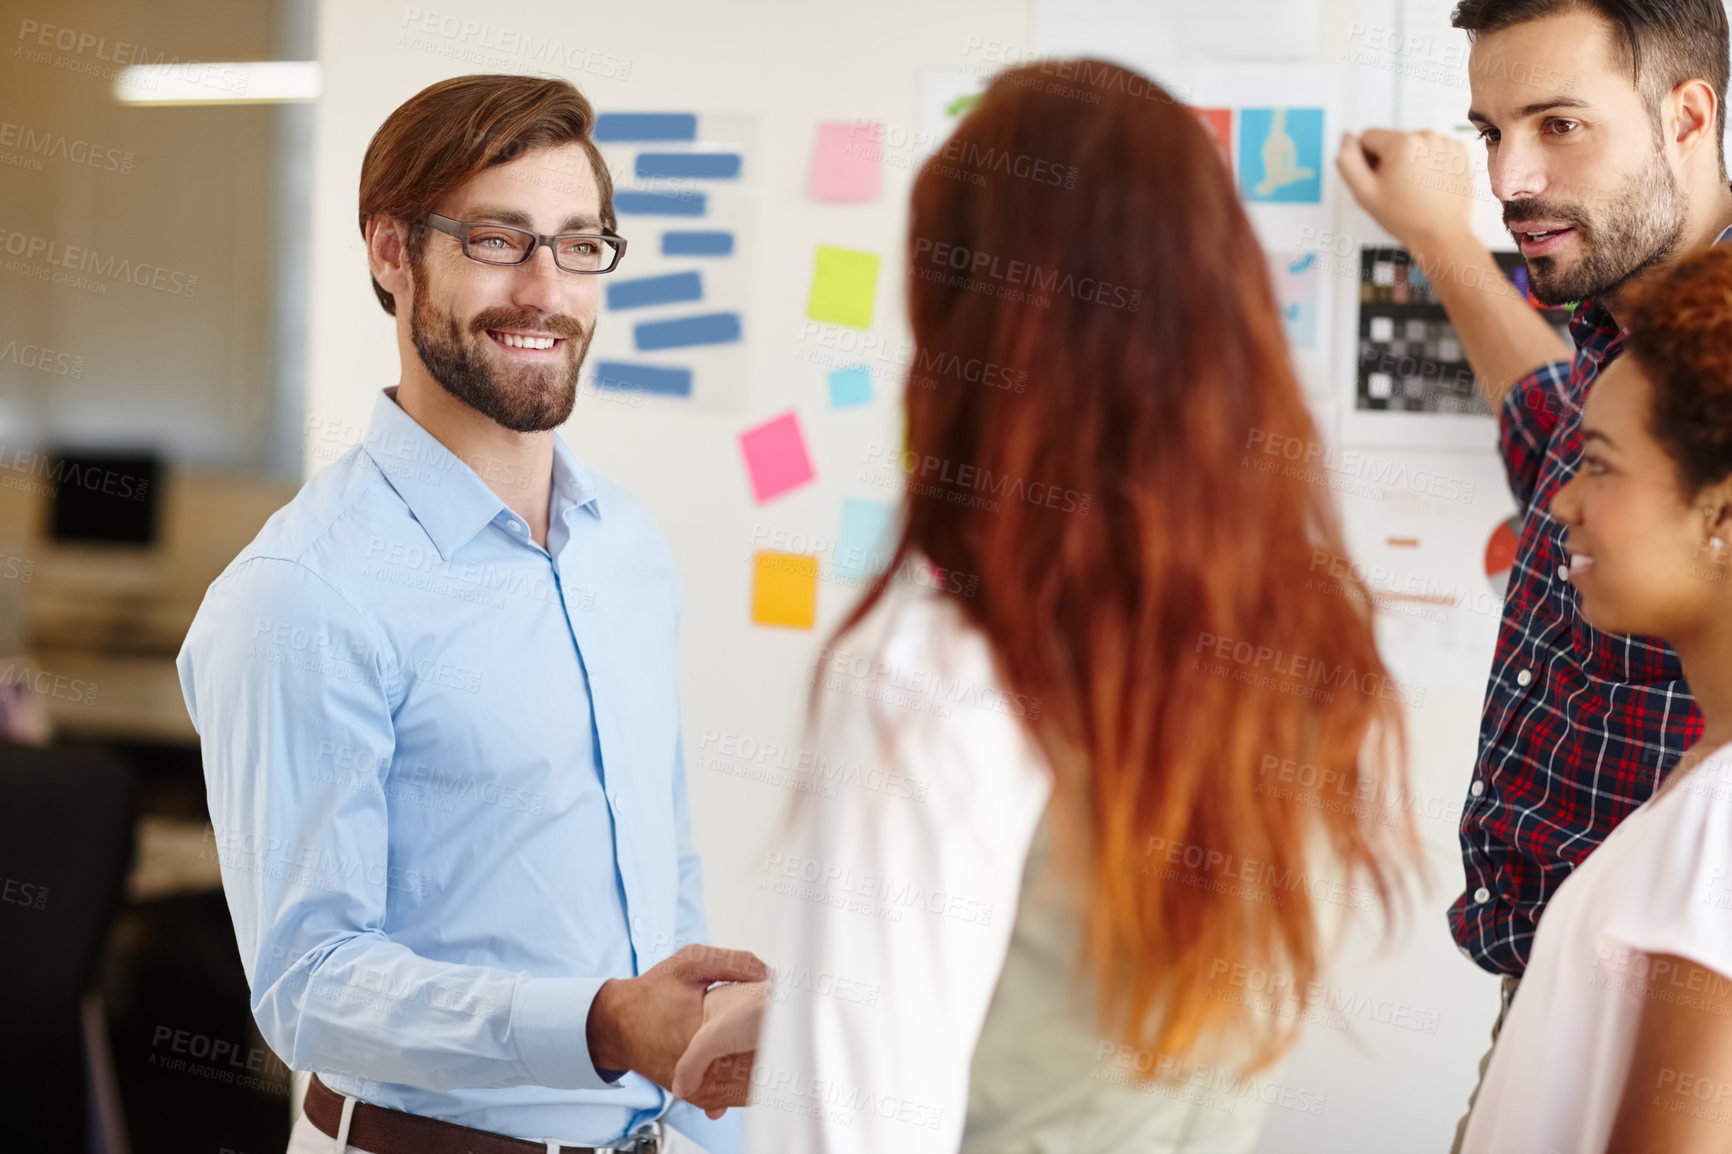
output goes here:
[[[1393, 7], [1393, 0], [1391, 0]], [[433, 3], [419, 9], [435, 10]], [[402, 43], [410, 5], [326, 0], [319, 55], [326, 92], [317, 109], [312, 269], [310, 421], [365, 426], [378, 388], [397, 379], [390, 319], [367, 284], [355, 227], [360, 156], [374, 128], [424, 85], [461, 71], [525, 69], [501, 54], [462, 62]], [[805, 293], [812, 248], [819, 243], [878, 251], [883, 258], [875, 333], [892, 343], [901, 321], [904, 204], [911, 168], [887, 166], [875, 204], [824, 206], [805, 199], [805, 175], [819, 120], [869, 118], [904, 130], [921, 126], [916, 97], [923, 68], [975, 66], [970, 38], [1027, 45], [1034, 35], [1029, 3], [1003, 0], [878, 0], [871, 5], [793, 0], [662, 0], [570, 3], [554, 0], [471, 0], [440, 3], [443, 16], [495, 28], [537, 29], [611, 57], [594, 71], [566, 71], [599, 109], [667, 109], [757, 118], [753, 187], [755, 251], [746, 301], [745, 409], [719, 412], [679, 402], [624, 405], [582, 397], [563, 430], [591, 466], [634, 490], [656, 515], [679, 563], [686, 591], [682, 686], [688, 754], [703, 750], [707, 731], [755, 742], [793, 743], [804, 681], [816, 639], [847, 608], [850, 591], [821, 582], [816, 632], [748, 624], [750, 551], [766, 530], [833, 539], [842, 497], [883, 499], [885, 490], [856, 475], [866, 445], [895, 444], [901, 416], [895, 386], [876, 379], [876, 399], [863, 409], [831, 411], [824, 369], [802, 353]], [[1322, 55], [1341, 43], [1351, 5], [1322, 5]], [[450, 45], [447, 45], [450, 47]], [[618, 61], [629, 62], [622, 80]], [[1327, 62], [1327, 61], [1322, 61]], [[1356, 92], [1344, 76], [1344, 120], [1363, 125]], [[1370, 102], [1382, 111], [1382, 104]], [[1377, 114], [1377, 113], [1373, 113]], [[1334, 180], [1334, 172], [1328, 172]], [[1347, 198], [1337, 215], [1351, 220]], [[1356, 227], [1363, 229], [1363, 222]], [[1337, 284], [1337, 312], [1351, 307], [1351, 286]], [[1349, 362], [1351, 364], [1351, 362]], [[797, 409], [818, 483], [767, 506], [752, 499], [736, 437], [753, 423]], [[1320, 404], [1328, 419], [1328, 402]], [[1327, 423], [1325, 426], [1332, 426]], [[308, 466], [324, 464], [308, 459]], [[1481, 496], [1462, 509], [1419, 509], [1432, 522], [1477, 534], [1509, 513], [1490, 442], [1451, 454], [1444, 468], [1481, 478]], [[1354, 542], [1380, 544], [1377, 509], [1349, 511]], [[1479, 537], [1483, 542], [1483, 537]], [[1415, 783], [1422, 797], [1458, 806], [1474, 757], [1481, 693], [1432, 690], [1413, 714]], [[792, 794], [736, 773], [691, 771], [698, 846], [708, 868], [714, 937], [762, 950], [781, 910], [755, 889], [764, 847]], [[1332, 1154], [1448, 1149], [1455, 1118], [1474, 1081], [1474, 1064], [1495, 1012], [1495, 982], [1467, 963], [1448, 937], [1443, 908], [1460, 884], [1451, 818], [1420, 823], [1436, 885], [1415, 906], [1405, 936], [1386, 958], [1344, 974], [1341, 984], [1373, 1008], [1354, 1019], [1354, 1034], [1311, 1031], [1280, 1079], [1323, 1095], [1318, 1116], [1273, 1109], [1261, 1149]], [[1434, 1021], [1434, 1033], [1379, 1024], [1379, 1007], [1405, 1005]], [[1432, 1017], [1434, 1015], [1434, 1017]]]

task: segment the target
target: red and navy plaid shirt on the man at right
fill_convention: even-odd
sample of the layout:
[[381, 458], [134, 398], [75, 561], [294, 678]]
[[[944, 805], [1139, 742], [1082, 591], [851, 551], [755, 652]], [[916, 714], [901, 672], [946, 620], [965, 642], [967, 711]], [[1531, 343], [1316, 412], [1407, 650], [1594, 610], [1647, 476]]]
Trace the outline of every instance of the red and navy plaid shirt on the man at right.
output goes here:
[[[1716, 243], [1727, 237], [1732, 229]], [[1581, 405], [1625, 341], [1593, 300], [1576, 307], [1569, 334], [1576, 359], [1522, 378], [1498, 419], [1522, 532], [1462, 807], [1467, 887], [1450, 906], [1462, 953], [1516, 976], [1545, 903], [1703, 733], [1677, 653], [1658, 638], [1600, 632], [1564, 580], [1552, 497], [1581, 466]]]

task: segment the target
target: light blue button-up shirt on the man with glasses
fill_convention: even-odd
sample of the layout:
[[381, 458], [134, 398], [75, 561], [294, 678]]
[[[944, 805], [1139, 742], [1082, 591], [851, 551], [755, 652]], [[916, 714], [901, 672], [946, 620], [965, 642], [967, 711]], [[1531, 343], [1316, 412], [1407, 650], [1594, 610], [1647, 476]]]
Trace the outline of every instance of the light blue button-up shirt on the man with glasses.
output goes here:
[[[601, 1145], [672, 1099], [596, 1071], [596, 989], [705, 939], [682, 603], [650, 515], [558, 435], [551, 497], [544, 551], [385, 390], [178, 667], [265, 1041], [367, 1102]], [[667, 1119], [740, 1145], [738, 1111]]]

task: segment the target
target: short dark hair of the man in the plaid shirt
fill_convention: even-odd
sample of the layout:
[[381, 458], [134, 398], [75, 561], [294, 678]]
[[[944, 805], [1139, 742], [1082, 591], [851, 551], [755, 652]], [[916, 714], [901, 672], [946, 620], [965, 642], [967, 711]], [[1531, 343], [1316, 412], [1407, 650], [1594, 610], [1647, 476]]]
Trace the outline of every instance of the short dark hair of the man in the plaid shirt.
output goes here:
[[1472, 40], [1564, 12], [1592, 12], [1612, 26], [1614, 64], [1628, 69], [1659, 130], [1659, 102], [1685, 80], [1715, 90], [1715, 156], [1725, 177], [1727, 10], [1720, 0], [1462, 0], [1450, 24]]

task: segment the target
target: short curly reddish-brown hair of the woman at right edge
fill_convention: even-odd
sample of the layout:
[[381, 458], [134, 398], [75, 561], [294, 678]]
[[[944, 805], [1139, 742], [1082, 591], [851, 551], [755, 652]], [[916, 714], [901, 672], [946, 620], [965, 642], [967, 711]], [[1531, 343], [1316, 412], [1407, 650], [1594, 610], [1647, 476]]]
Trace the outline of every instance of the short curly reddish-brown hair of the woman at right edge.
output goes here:
[[1732, 244], [1637, 277], [1618, 317], [1652, 385], [1649, 431], [1677, 463], [1685, 499], [1732, 477]]

